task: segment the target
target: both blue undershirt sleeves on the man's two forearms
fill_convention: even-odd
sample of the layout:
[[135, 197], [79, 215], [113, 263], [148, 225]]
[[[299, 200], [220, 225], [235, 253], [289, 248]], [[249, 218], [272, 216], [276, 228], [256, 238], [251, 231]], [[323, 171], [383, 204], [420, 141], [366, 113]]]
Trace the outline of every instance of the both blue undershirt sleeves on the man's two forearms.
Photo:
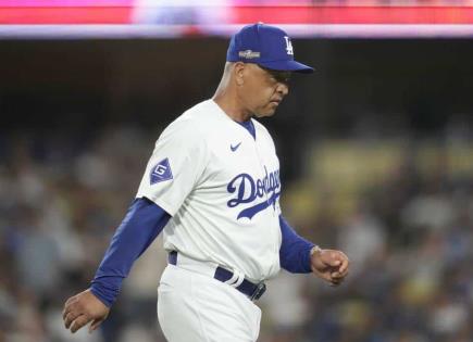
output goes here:
[[[132, 203], [90, 287], [91, 292], [108, 307], [115, 302], [134, 262], [154, 241], [170, 218], [170, 214], [146, 198]], [[311, 273], [310, 251], [314, 244], [299, 237], [283, 216], [279, 216], [279, 225], [283, 237], [281, 266], [290, 273]]]

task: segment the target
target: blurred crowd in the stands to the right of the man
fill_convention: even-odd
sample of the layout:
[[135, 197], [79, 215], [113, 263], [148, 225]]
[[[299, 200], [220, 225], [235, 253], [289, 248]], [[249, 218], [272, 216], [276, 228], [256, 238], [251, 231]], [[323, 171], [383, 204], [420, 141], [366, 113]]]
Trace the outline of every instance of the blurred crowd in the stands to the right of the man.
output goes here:
[[409, 144], [321, 142], [283, 208], [303, 236], [345, 251], [351, 273], [336, 289], [283, 273], [265, 303], [282, 331], [262, 341], [473, 341], [473, 149]]

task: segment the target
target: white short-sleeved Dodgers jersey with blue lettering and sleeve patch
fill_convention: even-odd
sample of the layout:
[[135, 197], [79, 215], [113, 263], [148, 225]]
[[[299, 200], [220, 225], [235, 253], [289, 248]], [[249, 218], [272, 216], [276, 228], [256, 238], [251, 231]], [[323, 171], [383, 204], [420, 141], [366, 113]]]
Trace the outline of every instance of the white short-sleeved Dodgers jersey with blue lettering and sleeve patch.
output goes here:
[[267, 130], [256, 139], [213, 100], [186, 111], [155, 143], [137, 198], [172, 218], [164, 249], [242, 271], [251, 281], [279, 270], [279, 161]]

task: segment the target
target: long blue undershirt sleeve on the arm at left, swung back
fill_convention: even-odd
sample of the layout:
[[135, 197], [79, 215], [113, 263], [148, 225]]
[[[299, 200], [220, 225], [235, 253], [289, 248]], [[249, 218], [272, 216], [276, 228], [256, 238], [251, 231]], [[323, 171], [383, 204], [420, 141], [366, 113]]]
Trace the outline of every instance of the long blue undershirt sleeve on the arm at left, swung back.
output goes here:
[[163, 230], [171, 215], [147, 198], [135, 200], [116, 229], [91, 281], [91, 292], [112, 306], [133, 263]]

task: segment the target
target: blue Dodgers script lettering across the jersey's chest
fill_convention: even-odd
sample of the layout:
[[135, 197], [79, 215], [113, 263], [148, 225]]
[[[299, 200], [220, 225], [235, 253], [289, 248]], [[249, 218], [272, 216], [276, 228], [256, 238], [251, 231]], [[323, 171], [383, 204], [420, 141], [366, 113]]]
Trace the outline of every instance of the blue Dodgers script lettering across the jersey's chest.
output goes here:
[[264, 170], [265, 176], [257, 180], [248, 174], [239, 174], [226, 187], [229, 193], [235, 193], [236, 195], [226, 203], [228, 207], [236, 207], [247, 203], [252, 204], [240, 211], [237, 219], [241, 217], [251, 219], [259, 212], [271, 205], [275, 208], [276, 200], [281, 194], [279, 170], [267, 173], [266, 167], [264, 167]]

